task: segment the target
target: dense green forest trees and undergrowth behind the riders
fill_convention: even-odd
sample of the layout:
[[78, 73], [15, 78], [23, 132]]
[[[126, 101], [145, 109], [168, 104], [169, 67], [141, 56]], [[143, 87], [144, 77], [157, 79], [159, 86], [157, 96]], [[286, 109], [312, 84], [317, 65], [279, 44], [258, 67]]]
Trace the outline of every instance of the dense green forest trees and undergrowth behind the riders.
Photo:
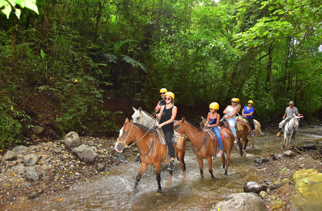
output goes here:
[[255, 119], [268, 122], [290, 100], [305, 116], [320, 113], [320, 1], [37, 6], [39, 15], [25, 10], [19, 20], [0, 17], [1, 109], [9, 115], [1, 125], [10, 142], [28, 136], [25, 125], [33, 121], [51, 125], [57, 136], [70, 130], [111, 134], [118, 114], [102, 109], [105, 95], [154, 108], [163, 87], [185, 105], [217, 101], [222, 108], [233, 97], [251, 99]]

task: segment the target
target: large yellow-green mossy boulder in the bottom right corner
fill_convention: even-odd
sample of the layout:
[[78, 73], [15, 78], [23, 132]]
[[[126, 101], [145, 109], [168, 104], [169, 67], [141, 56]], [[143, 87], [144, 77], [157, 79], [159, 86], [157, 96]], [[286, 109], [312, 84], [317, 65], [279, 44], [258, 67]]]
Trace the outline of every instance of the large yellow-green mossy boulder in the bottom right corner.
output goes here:
[[296, 171], [292, 176], [293, 194], [285, 211], [320, 211], [322, 207], [322, 173], [315, 169]]

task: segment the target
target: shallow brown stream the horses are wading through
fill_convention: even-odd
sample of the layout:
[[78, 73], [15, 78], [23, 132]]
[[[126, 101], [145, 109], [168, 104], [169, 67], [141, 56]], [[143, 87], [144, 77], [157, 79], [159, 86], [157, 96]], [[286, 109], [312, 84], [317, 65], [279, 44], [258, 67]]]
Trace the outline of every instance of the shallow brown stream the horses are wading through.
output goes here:
[[[322, 141], [322, 128], [300, 127], [294, 145], [305, 142]], [[113, 172], [96, 176], [93, 181], [83, 185], [75, 185], [57, 197], [40, 196], [34, 200], [25, 200], [18, 205], [2, 205], [0, 210], [77, 210], [77, 211], [186, 211], [208, 210], [214, 201], [220, 201], [232, 193], [243, 192], [243, 184], [248, 181], [260, 182], [262, 176], [258, 174], [254, 159], [266, 157], [281, 149], [283, 139], [276, 137], [276, 131], [266, 130], [265, 135], [257, 137], [255, 147], [249, 142], [245, 157], [240, 157], [237, 147], [233, 147], [228, 175], [224, 175], [221, 159], [213, 162], [212, 179], [208, 171], [208, 164], [204, 160], [204, 178], [201, 178], [199, 165], [191, 150], [186, 151], [186, 181], [183, 181], [181, 165], [176, 161], [172, 181], [168, 182], [166, 164], [162, 165], [161, 186], [162, 193], [157, 194], [155, 170], [150, 167], [143, 174], [138, 194], [131, 196], [140, 164], [130, 161], [116, 166]], [[248, 136], [250, 139], [251, 136]], [[187, 143], [188, 145], [188, 143]]]

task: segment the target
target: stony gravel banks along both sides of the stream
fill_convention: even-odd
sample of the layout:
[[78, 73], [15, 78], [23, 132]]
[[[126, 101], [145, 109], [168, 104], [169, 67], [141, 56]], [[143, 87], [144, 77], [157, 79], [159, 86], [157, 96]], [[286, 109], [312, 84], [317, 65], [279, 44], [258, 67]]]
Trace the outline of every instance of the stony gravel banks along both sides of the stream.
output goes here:
[[[133, 159], [138, 153], [137, 147], [131, 147], [119, 154], [114, 150], [115, 142], [116, 138], [80, 136], [80, 144], [96, 154], [93, 161], [80, 158], [64, 140], [38, 140], [33, 145], [15, 146], [10, 152], [1, 152], [0, 203], [19, 204], [40, 195], [53, 195], [59, 199], [73, 185], [95, 180], [98, 174], [108, 174], [114, 166]], [[322, 172], [321, 145], [315, 145], [316, 150], [301, 146], [285, 148], [263, 156], [261, 164], [254, 163], [258, 173], [265, 178], [260, 185], [281, 184], [277, 189], [260, 194], [268, 210], [284, 210], [292, 194], [291, 178], [295, 171], [316, 169]], [[191, 148], [187, 147], [187, 150]], [[283, 155], [288, 150], [294, 153], [290, 157]]]

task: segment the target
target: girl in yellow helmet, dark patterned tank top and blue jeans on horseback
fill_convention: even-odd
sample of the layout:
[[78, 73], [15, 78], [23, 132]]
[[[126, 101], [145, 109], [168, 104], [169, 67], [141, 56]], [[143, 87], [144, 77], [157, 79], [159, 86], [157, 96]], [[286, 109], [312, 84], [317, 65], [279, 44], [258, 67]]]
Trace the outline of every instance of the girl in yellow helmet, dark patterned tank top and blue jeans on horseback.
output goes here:
[[207, 121], [204, 124], [204, 126], [211, 127], [211, 130], [213, 131], [214, 134], [216, 134], [217, 139], [218, 139], [218, 144], [219, 144], [219, 153], [217, 154], [218, 157], [221, 157], [223, 154], [223, 140], [220, 135], [218, 125], [220, 124], [219, 119], [220, 115], [217, 114], [217, 110], [219, 109], [219, 104], [216, 102], [212, 102], [209, 105], [209, 113], [207, 116]]

